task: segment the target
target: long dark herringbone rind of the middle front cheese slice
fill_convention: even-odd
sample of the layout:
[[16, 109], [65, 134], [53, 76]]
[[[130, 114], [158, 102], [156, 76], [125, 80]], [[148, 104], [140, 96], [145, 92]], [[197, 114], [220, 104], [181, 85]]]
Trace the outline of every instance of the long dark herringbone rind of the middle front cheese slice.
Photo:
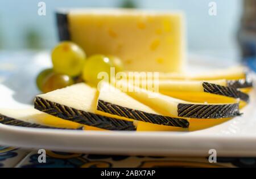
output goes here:
[[98, 100], [97, 110], [133, 120], [156, 123], [158, 125], [175, 127], [189, 126], [189, 122], [182, 118], [173, 118], [168, 116], [160, 116], [158, 114], [146, 113], [142, 112], [141, 110], [125, 108], [123, 106], [115, 105], [102, 100]]

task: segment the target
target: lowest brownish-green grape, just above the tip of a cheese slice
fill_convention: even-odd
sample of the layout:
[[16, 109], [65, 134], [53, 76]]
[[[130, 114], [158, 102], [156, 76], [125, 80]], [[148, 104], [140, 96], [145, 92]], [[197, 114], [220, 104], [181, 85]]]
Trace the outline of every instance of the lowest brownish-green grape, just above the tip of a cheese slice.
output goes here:
[[42, 91], [44, 93], [64, 88], [74, 84], [71, 76], [52, 73], [43, 82]]

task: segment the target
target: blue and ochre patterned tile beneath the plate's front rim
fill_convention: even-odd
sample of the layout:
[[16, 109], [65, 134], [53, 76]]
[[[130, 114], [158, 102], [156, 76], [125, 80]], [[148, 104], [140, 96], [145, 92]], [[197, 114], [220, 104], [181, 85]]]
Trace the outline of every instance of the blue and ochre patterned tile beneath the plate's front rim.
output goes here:
[[236, 167], [231, 159], [210, 164], [205, 157], [88, 155], [55, 151], [46, 151], [46, 154], [46, 163], [39, 163], [39, 154], [37, 151], [32, 151], [16, 167]]

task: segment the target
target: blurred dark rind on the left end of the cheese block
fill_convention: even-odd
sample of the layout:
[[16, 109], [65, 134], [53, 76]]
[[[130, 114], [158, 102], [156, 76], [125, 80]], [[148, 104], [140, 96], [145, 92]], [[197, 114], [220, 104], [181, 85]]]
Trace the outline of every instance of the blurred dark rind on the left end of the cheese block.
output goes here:
[[68, 29], [68, 15], [65, 13], [57, 12], [56, 13], [56, 19], [57, 19], [57, 28], [58, 28], [58, 34], [59, 34], [59, 40], [70, 40], [70, 34]]

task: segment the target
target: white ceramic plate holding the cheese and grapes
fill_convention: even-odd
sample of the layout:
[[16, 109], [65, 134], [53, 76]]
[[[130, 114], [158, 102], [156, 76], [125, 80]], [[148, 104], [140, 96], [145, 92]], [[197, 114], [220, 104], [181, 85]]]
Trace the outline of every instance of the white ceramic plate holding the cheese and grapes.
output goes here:
[[[48, 57], [33, 56], [30, 65], [23, 69], [18, 67], [19, 70], [5, 77], [0, 84], [0, 107], [30, 106], [38, 93], [34, 86], [35, 74], [49, 64], [39, 65], [39, 59], [47, 61]], [[70, 131], [0, 124], [0, 144], [93, 154], [209, 156], [209, 150], [214, 149], [218, 156], [256, 156], [255, 107], [253, 91], [242, 116], [192, 132]]]

